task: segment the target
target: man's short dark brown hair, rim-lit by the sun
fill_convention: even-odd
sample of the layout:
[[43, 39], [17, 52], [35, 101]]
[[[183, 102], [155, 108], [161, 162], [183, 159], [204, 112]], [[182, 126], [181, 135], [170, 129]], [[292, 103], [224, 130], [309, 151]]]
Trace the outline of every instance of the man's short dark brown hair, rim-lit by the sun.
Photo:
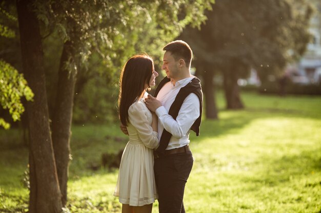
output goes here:
[[182, 40], [172, 41], [164, 46], [163, 51], [171, 52], [175, 60], [183, 58], [186, 66], [190, 67], [193, 52], [188, 43]]

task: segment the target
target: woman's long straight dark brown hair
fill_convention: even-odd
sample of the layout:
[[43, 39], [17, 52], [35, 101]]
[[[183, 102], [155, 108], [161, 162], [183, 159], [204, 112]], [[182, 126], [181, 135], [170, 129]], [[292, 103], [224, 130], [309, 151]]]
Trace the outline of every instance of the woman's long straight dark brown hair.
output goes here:
[[119, 78], [118, 109], [119, 118], [127, 126], [128, 109], [145, 92], [145, 84], [153, 73], [153, 59], [147, 54], [132, 56], [124, 65]]

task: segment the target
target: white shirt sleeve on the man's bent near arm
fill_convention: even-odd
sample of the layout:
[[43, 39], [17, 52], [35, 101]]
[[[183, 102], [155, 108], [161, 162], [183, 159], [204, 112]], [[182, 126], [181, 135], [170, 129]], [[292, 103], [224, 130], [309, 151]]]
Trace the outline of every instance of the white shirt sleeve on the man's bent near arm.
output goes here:
[[199, 117], [199, 106], [200, 103], [196, 94], [190, 93], [180, 107], [176, 121], [168, 114], [164, 106], [158, 107], [155, 112], [164, 129], [170, 132], [173, 137], [179, 139], [187, 134]]

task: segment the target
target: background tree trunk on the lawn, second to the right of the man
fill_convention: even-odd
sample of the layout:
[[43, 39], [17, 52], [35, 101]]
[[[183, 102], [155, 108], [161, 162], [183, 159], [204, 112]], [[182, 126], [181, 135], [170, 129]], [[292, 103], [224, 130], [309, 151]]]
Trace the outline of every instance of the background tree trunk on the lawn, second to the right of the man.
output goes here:
[[227, 109], [242, 109], [244, 105], [239, 96], [239, 87], [237, 84], [236, 70], [226, 70], [223, 73], [224, 76], [224, 92], [226, 98]]

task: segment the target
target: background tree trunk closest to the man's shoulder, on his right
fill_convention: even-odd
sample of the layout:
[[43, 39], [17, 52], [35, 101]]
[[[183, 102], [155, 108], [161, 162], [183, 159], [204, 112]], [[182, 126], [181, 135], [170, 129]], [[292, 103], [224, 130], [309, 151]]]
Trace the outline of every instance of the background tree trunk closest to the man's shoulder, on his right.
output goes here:
[[[206, 68], [203, 68], [206, 67]], [[205, 105], [206, 105], [206, 118], [207, 119], [218, 119], [217, 116], [217, 107], [215, 102], [215, 92], [214, 92], [214, 83], [213, 77], [214, 72], [211, 70], [209, 66], [201, 66], [197, 67], [198, 69], [205, 69], [202, 73], [203, 82], [204, 82], [204, 96], [205, 96]]]

